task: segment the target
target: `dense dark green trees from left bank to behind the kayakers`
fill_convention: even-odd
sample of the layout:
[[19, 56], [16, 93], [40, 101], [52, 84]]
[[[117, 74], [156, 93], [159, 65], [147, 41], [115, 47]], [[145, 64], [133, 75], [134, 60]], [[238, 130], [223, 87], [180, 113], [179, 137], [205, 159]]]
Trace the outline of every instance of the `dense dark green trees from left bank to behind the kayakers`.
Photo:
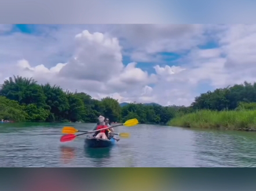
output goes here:
[[140, 123], [163, 123], [175, 117], [185, 107], [145, 106], [127, 104], [120, 107], [118, 100], [93, 99], [83, 92], [64, 91], [49, 83], [39, 85], [32, 78], [20, 76], [5, 80], [0, 89], [0, 119], [13, 121], [96, 122], [99, 115], [111, 122], [137, 118]]

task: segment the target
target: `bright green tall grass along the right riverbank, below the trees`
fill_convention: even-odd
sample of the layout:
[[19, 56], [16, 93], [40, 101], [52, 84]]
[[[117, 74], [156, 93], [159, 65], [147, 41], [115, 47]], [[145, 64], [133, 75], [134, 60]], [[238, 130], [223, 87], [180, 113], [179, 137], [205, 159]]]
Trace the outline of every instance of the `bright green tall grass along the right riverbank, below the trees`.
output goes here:
[[171, 119], [167, 125], [188, 128], [256, 130], [256, 110], [200, 110]]

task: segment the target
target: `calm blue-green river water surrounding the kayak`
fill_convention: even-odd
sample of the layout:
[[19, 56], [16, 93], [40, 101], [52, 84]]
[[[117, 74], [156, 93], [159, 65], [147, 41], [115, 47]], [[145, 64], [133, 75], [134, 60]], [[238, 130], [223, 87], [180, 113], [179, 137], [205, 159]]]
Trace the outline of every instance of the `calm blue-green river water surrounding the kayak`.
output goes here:
[[120, 126], [114, 147], [89, 149], [83, 136], [60, 143], [63, 126], [92, 123], [0, 124], [0, 167], [256, 167], [256, 133], [160, 125]]

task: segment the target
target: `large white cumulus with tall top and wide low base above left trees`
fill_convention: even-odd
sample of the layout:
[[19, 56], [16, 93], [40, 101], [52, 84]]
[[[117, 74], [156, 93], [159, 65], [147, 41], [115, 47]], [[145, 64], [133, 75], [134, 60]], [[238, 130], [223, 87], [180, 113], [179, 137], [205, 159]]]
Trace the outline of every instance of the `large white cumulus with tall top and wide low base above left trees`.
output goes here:
[[[155, 74], [136, 68], [135, 62], [122, 63], [122, 47], [118, 39], [100, 32], [82, 31], [75, 36], [74, 55], [67, 63], [31, 66], [21, 59], [16, 63], [16, 74], [34, 77], [39, 83], [54, 83], [74, 91], [85, 91], [94, 98], [112, 95], [125, 100], [123, 95], [137, 94], [148, 83], [156, 81]], [[74, 85], [75, 84], [75, 85]]]

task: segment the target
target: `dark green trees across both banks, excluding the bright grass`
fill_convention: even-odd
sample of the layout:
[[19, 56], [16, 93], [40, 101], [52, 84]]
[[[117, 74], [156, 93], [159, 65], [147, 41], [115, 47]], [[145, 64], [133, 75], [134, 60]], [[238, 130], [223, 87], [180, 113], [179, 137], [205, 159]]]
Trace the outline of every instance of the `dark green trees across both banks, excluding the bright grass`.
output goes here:
[[20, 76], [5, 80], [0, 89], [0, 118], [14, 121], [96, 122], [98, 115], [111, 122], [137, 118], [140, 123], [166, 124], [174, 117], [198, 110], [254, 110], [256, 83], [234, 85], [202, 93], [189, 107], [130, 103], [120, 107], [118, 100], [93, 99], [83, 92], [64, 91], [49, 83], [39, 85]]

